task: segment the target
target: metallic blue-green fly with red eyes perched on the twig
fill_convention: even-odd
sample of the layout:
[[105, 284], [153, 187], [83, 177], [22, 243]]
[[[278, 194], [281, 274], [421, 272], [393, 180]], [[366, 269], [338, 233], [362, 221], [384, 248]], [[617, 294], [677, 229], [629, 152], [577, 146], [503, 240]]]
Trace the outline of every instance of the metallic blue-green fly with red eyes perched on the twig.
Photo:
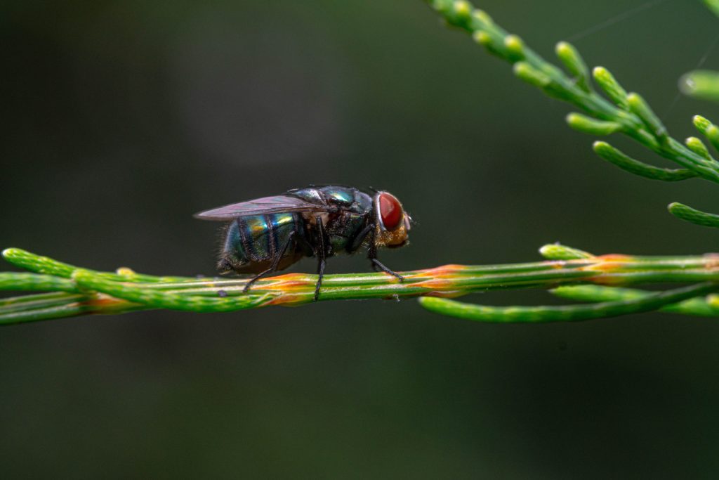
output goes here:
[[367, 248], [375, 271], [404, 278], [377, 260], [377, 248], [408, 243], [411, 218], [387, 191], [367, 194], [346, 186], [309, 186], [278, 196], [229, 204], [195, 214], [203, 220], [228, 222], [217, 269], [220, 273], [255, 273], [257, 280], [303, 257], [317, 258], [315, 301], [326, 259]]

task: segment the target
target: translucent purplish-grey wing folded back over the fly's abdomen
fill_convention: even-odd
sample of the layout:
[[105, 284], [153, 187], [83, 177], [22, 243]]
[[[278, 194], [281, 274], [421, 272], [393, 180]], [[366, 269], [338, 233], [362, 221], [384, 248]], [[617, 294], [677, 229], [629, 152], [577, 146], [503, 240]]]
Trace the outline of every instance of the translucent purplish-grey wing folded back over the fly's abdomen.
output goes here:
[[194, 215], [201, 220], [217, 220], [226, 222], [233, 218], [247, 215], [264, 215], [285, 212], [327, 212], [331, 207], [324, 202], [313, 204], [296, 196], [265, 196], [261, 199], [242, 201], [239, 204], [229, 204], [224, 207], [206, 210]]

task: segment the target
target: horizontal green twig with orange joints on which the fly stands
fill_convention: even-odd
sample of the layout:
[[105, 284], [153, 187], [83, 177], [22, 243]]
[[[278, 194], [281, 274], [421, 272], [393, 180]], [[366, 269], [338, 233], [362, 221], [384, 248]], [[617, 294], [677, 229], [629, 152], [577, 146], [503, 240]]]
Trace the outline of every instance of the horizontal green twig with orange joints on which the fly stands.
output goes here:
[[[426, 268], [403, 272], [405, 280], [401, 283], [385, 273], [328, 275], [322, 284], [320, 300], [460, 296], [475, 291], [553, 289], [557, 286], [577, 284], [615, 286], [656, 282], [719, 282], [717, 255], [597, 256], [559, 244], [545, 245], [540, 251], [549, 260], [505, 265], [446, 265]], [[71, 266], [17, 248], [9, 248], [3, 255], [10, 263], [35, 273], [0, 273], [0, 289], [52, 293], [0, 299], [0, 325], [86, 314], [118, 314], [142, 309], [231, 312], [270, 305], [306, 304], [312, 302], [317, 280], [315, 275], [289, 273], [260, 279], [248, 293], [243, 293], [247, 279], [151, 276], [135, 273], [129, 268], [119, 268], [115, 273], [99, 272]], [[703, 291], [695, 296], [701, 295]], [[567, 319], [579, 320], [580, 317], [593, 318], [599, 312], [608, 315], [644, 312], [680, 301], [672, 292], [656, 298], [663, 303], [657, 303], [659, 300], [654, 297], [623, 298], [621, 308], [614, 305], [595, 305], [596, 308], [589, 309], [580, 305], [557, 310], [554, 312], [555, 317], [549, 317], [547, 312], [551, 310], [544, 307], [477, 308], [482, 309], [482, 315], [485, 315], [488, 321], [499, 321], [499, 317], [505, 318], [503, 321], [512, 322], [551, 321], [559, 315], [558, 312], [567, 315]], [[682, 296], [681, 299], [684, 298]], [[438, 305], [443, 303], [426, 300], [423, 305], [438, 309]], [[583, 312], [585, 310], [586, 312]]]

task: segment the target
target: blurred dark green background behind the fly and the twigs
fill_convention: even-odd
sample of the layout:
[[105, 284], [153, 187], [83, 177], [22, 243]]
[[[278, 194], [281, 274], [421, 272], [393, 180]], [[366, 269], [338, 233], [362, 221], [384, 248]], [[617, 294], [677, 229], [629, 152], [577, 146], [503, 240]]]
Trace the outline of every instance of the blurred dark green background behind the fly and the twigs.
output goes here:
[[[553, 57], [557, 40], [641, 4], [480, 6]], [[594, 139], [564, 124], [569, 107], [421, 0], [5, 0], [2, 11], [3, 248], [212, 274], [217, 225], [193, 212], [336, 182], [388, 189], [418, 220], [409, 248], [380, 256], [398, 270], [533, 261], [557, 240], [717, 250], [716, 232], [665, 209], [716, 211], [716, 186], [653, 183], [595, 158]], [[700, 1], [669, 0], [575, 45], [683, 138], [692, 114], [719, 117], [683, 97], [672, 107], [718, 22]], [[705, 66], [718, 64], [710, 53]], [[413, 301], [7, 327], [0, 474], [715, 478], [718, 347], [716, 320], [482, 325]]]

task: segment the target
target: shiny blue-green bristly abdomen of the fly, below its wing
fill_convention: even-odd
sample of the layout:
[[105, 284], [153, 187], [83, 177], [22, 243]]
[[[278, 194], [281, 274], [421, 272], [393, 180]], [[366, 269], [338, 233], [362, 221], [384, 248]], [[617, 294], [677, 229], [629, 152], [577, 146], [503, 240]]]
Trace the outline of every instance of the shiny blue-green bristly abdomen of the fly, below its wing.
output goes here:
[[219, 270], [238, 273], [264, 271], [293, 235], [278, 265], [278, 270], [287, 268], [302, 256], [296, 248], [304, 232], [302, 225], [301, 217], [294, 213], [248, 215], [234, 219], [227, 228]]

